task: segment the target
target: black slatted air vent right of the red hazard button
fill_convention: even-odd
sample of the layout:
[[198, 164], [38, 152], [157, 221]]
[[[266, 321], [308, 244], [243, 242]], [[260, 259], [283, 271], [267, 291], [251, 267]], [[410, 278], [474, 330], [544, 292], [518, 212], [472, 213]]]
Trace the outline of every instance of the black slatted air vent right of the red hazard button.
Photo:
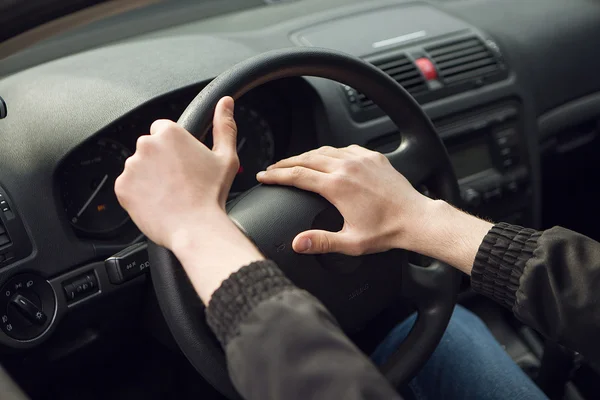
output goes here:
[[493, 75], [501, 69], [495, 55], [477, 37], [426, 47], [446, 85]]

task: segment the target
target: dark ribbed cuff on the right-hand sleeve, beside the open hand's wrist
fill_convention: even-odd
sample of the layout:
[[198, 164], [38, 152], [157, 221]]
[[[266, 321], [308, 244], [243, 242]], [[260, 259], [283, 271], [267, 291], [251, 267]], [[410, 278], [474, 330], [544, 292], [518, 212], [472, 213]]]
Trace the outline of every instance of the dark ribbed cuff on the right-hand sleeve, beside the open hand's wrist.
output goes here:
[[500, 223], [484, 237], [471, 272], [471, 287], [512, 309], [519, 281], [541, 232]]

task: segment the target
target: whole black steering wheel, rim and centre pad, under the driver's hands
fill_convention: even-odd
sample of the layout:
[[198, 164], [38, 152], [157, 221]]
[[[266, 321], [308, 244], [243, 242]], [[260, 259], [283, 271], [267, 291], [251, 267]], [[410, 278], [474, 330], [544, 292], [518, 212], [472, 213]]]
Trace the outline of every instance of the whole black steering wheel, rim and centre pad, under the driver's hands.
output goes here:
[[[178, 123], [197, 138], [211, 128], [223, 96], [238, 99], [275, 79], [328, 78], [372, 99], [398, 126], [401, 144], [387, 154], [413, 184], [453, 201], [458, 186], [448, 154], [415, 100], [374, 66], [332, 50], [292, 48], [241, 62], [207, 85]], [[411, 301], [416, 323], [382, 372], [398, 387], [427, 361], [444, 333], [458, 292], [457, 272], [440, 262], [412, 265], [407, 253], [392, 250], [361, 257], [299, 255], [291, 247], [301, 231], [337, 230], [342, 218], [322, 197], [295, 188], [257, 186], [228, 206], [228, 214], [263, 254], [277, 262], [299, 287], [319, 298], [347, 332], [359, 329], [394, 302]], [[160, 308], [179, 347], [198, 372], [230, 399], [239, 398], [227, 373], [225, 356], [204, 318], [204, 307], [176, 257], [153, 243], [148, 247], [151, 275]]]

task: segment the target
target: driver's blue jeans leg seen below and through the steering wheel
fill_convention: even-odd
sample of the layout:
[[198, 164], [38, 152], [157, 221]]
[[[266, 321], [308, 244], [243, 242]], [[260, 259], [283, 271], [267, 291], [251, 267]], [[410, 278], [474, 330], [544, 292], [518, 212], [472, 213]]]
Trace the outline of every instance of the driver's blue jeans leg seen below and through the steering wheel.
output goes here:
[[[416, 315], [392, 330], [372, 355], [383, 364], [408, 335]], [[408, 384], [417, 400], [546, 399], [473, 313], [457, 306], [437, 349]]]

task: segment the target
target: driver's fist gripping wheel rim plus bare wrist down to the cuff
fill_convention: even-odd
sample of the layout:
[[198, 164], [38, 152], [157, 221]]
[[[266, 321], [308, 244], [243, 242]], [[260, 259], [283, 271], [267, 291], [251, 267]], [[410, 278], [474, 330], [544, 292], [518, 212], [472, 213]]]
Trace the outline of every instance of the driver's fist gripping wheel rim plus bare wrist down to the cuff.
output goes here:
[[176, 123], [155, 121], [115, 182], [133, 222], [175, 253], [205, 303], [229, 274], [263, 258], [225, 213], [236, 140], [230, 97], [215, 109], [212, 150]]

